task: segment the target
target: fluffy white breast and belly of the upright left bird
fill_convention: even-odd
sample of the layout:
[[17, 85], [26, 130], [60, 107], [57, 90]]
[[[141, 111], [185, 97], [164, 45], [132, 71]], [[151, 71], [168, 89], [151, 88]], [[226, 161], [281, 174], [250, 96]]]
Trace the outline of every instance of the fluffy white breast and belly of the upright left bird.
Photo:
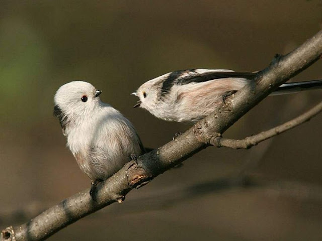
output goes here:
[[132, 124], [111, 106], [102, 106], [66, 128], [67, 146], [92, 179], [107, 179], [129, 156], [139, 156], [140, 140]]

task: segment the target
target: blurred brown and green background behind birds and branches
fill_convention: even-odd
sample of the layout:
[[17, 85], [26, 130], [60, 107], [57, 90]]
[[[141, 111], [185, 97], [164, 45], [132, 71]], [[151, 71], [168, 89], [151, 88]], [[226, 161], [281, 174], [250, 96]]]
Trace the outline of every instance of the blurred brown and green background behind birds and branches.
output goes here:
[[[62, 84], [86, 80], [143, 143], [189, 126], [133, 109], [143, 82], [190, 68], [261, 70], [322, 27], [322, 2], [0, 1], [0, 225], [26, 222], [90, 187], [52, 115]], [[291, 81], [322, 78], [322, 63]], [[321, 91], [268, 97], [225, 137], [288, 121]], [[321, 240], [322, 114], [251, 150], [207, 148], [183, 167], [49, 240]]]

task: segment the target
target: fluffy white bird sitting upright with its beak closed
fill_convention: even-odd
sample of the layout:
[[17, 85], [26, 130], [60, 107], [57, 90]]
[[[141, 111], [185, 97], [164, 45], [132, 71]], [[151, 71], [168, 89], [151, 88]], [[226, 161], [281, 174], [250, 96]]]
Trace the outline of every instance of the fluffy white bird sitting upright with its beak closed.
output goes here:
[[90, 83], [73, 81], [62, 85], [54, 97], [54, 115], [79, 167], [93, 181], [94, 200], [100, 181], [120, 170], [130, 157], [145, 152], [133, 125], [100, 100], [101, 92]]

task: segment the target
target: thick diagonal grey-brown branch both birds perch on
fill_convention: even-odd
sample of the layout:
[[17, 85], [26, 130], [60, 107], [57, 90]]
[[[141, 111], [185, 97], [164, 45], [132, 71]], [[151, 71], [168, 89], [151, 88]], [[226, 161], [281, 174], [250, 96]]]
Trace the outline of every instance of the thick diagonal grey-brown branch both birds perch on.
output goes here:
[[233, 123], [269, 93], [292, 76], [301, 72], [322, 54], [322, 31], [286, 56], [276, 56], [269, 67], [255, 80], [228, 97], [219, 108], [191, 129], [166, 145], [127, 163], [120, 171], [98, 186], [97, 202], [89, 189], [79, 192], [53, 206], [29, 222], [8, 227], [0, 240], [43, 240], [61, 228], [113, 202], [121, 203], [133, 188], [145, 185], [154, 177], [176, 166], [209, 146]]

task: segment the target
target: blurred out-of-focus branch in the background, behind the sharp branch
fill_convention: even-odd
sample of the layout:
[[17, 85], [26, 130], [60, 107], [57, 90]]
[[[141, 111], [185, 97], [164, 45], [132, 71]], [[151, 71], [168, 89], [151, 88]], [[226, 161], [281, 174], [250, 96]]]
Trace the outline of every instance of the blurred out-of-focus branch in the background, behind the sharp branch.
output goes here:
[[[322, 201], [322, 186], [311, 183], [275, 180], [268, 176], [246, 174], [238, 176], [219, 177], [204, 182], [186, 184], [180, 183], [162, 190], [155, 190], [138, 197], [127, 200], [126, 206], [119, 205], [117, 208], [105, 208], [99, 212], [100, 215], [123, 215], [127, 213], [140, 213], [148, 210], [159, 210], [178, 206], [187, 200], [202, 198], [202, 196], [223, 193], [232, 189], [260, 189], [268, 195], [292, 197], [301, 201]], [[142, 203], [144, 203], [142, 205]], [[17, 208], [7, 206], [0, 210], [0, 224], [3, 220], [10, 219], [11, 222], [21, 222], [26, 218], [37, 215], [45, 210], [45, 207], [54, 203], [43, 203], [33, 201]], [[8, 210], [9, 209], [9, 210]]]

